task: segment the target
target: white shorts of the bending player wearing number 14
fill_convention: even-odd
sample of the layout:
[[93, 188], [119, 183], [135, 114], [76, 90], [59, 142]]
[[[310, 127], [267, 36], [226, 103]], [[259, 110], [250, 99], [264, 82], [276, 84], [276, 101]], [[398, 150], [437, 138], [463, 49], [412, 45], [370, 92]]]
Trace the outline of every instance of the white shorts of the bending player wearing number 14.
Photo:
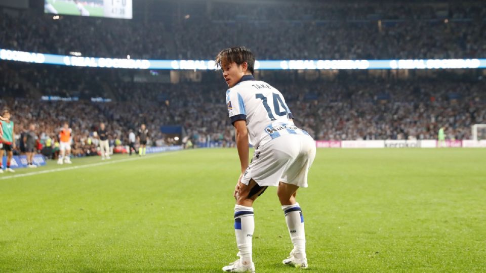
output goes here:
[[278, 186], [279, 181], [307, 188], [307, 173], [315, 158], [314, 140], [306, 134], [286, 134], [258, 147], [241, 178], [260, 187]]

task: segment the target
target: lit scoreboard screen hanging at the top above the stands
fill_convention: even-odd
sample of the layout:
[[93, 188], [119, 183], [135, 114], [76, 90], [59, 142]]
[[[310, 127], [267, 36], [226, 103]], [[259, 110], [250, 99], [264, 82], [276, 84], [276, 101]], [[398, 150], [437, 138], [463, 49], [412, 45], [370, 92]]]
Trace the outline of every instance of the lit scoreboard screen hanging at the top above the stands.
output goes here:
[[45, 0], [44, 12], [132, 19], [132, 0]]

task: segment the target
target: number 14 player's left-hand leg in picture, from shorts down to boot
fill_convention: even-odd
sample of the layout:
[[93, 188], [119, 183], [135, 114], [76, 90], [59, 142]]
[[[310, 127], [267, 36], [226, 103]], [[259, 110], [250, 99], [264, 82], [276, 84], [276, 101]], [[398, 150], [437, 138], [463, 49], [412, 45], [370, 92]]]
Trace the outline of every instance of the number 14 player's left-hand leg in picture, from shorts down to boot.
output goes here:
[[248, 185], [241, 184], [240, 191], [236, 194], [236, 205], [234, 206], [234, 233], [240, 258], [223, 267], [223, 271], [255, 271], [255, 265], [252, 261], [252, 238], [255, 230], [253, 202], [266, 189], [267, 187], [260, 187], [253, 179], [250, 179]]

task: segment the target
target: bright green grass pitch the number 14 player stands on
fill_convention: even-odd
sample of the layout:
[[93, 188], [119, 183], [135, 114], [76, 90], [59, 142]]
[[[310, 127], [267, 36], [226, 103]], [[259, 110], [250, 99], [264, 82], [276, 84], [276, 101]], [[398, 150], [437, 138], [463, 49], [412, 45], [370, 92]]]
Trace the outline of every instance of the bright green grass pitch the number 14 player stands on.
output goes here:
[[[0, 271], [219, 272], [236, 258], [235, 149], [128, 158], [0, 174]], [[310, 272], [486, 271], [484, 149], [319, 149], [297, 199]], [[255, 222], [257, 272], [298, 271], [281, 264], [275, 188]]]

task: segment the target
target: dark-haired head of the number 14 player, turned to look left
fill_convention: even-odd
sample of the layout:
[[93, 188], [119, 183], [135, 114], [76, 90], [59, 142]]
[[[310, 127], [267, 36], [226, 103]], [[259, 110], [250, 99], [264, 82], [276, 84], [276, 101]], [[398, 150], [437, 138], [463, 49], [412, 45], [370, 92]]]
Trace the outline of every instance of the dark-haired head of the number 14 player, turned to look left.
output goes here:
[[255, 55], [245, 47], [228, 48], [218, 53], [215, 62], [223, 71], [226, 84], [231, 88], [242, 76], [253, 74]]

